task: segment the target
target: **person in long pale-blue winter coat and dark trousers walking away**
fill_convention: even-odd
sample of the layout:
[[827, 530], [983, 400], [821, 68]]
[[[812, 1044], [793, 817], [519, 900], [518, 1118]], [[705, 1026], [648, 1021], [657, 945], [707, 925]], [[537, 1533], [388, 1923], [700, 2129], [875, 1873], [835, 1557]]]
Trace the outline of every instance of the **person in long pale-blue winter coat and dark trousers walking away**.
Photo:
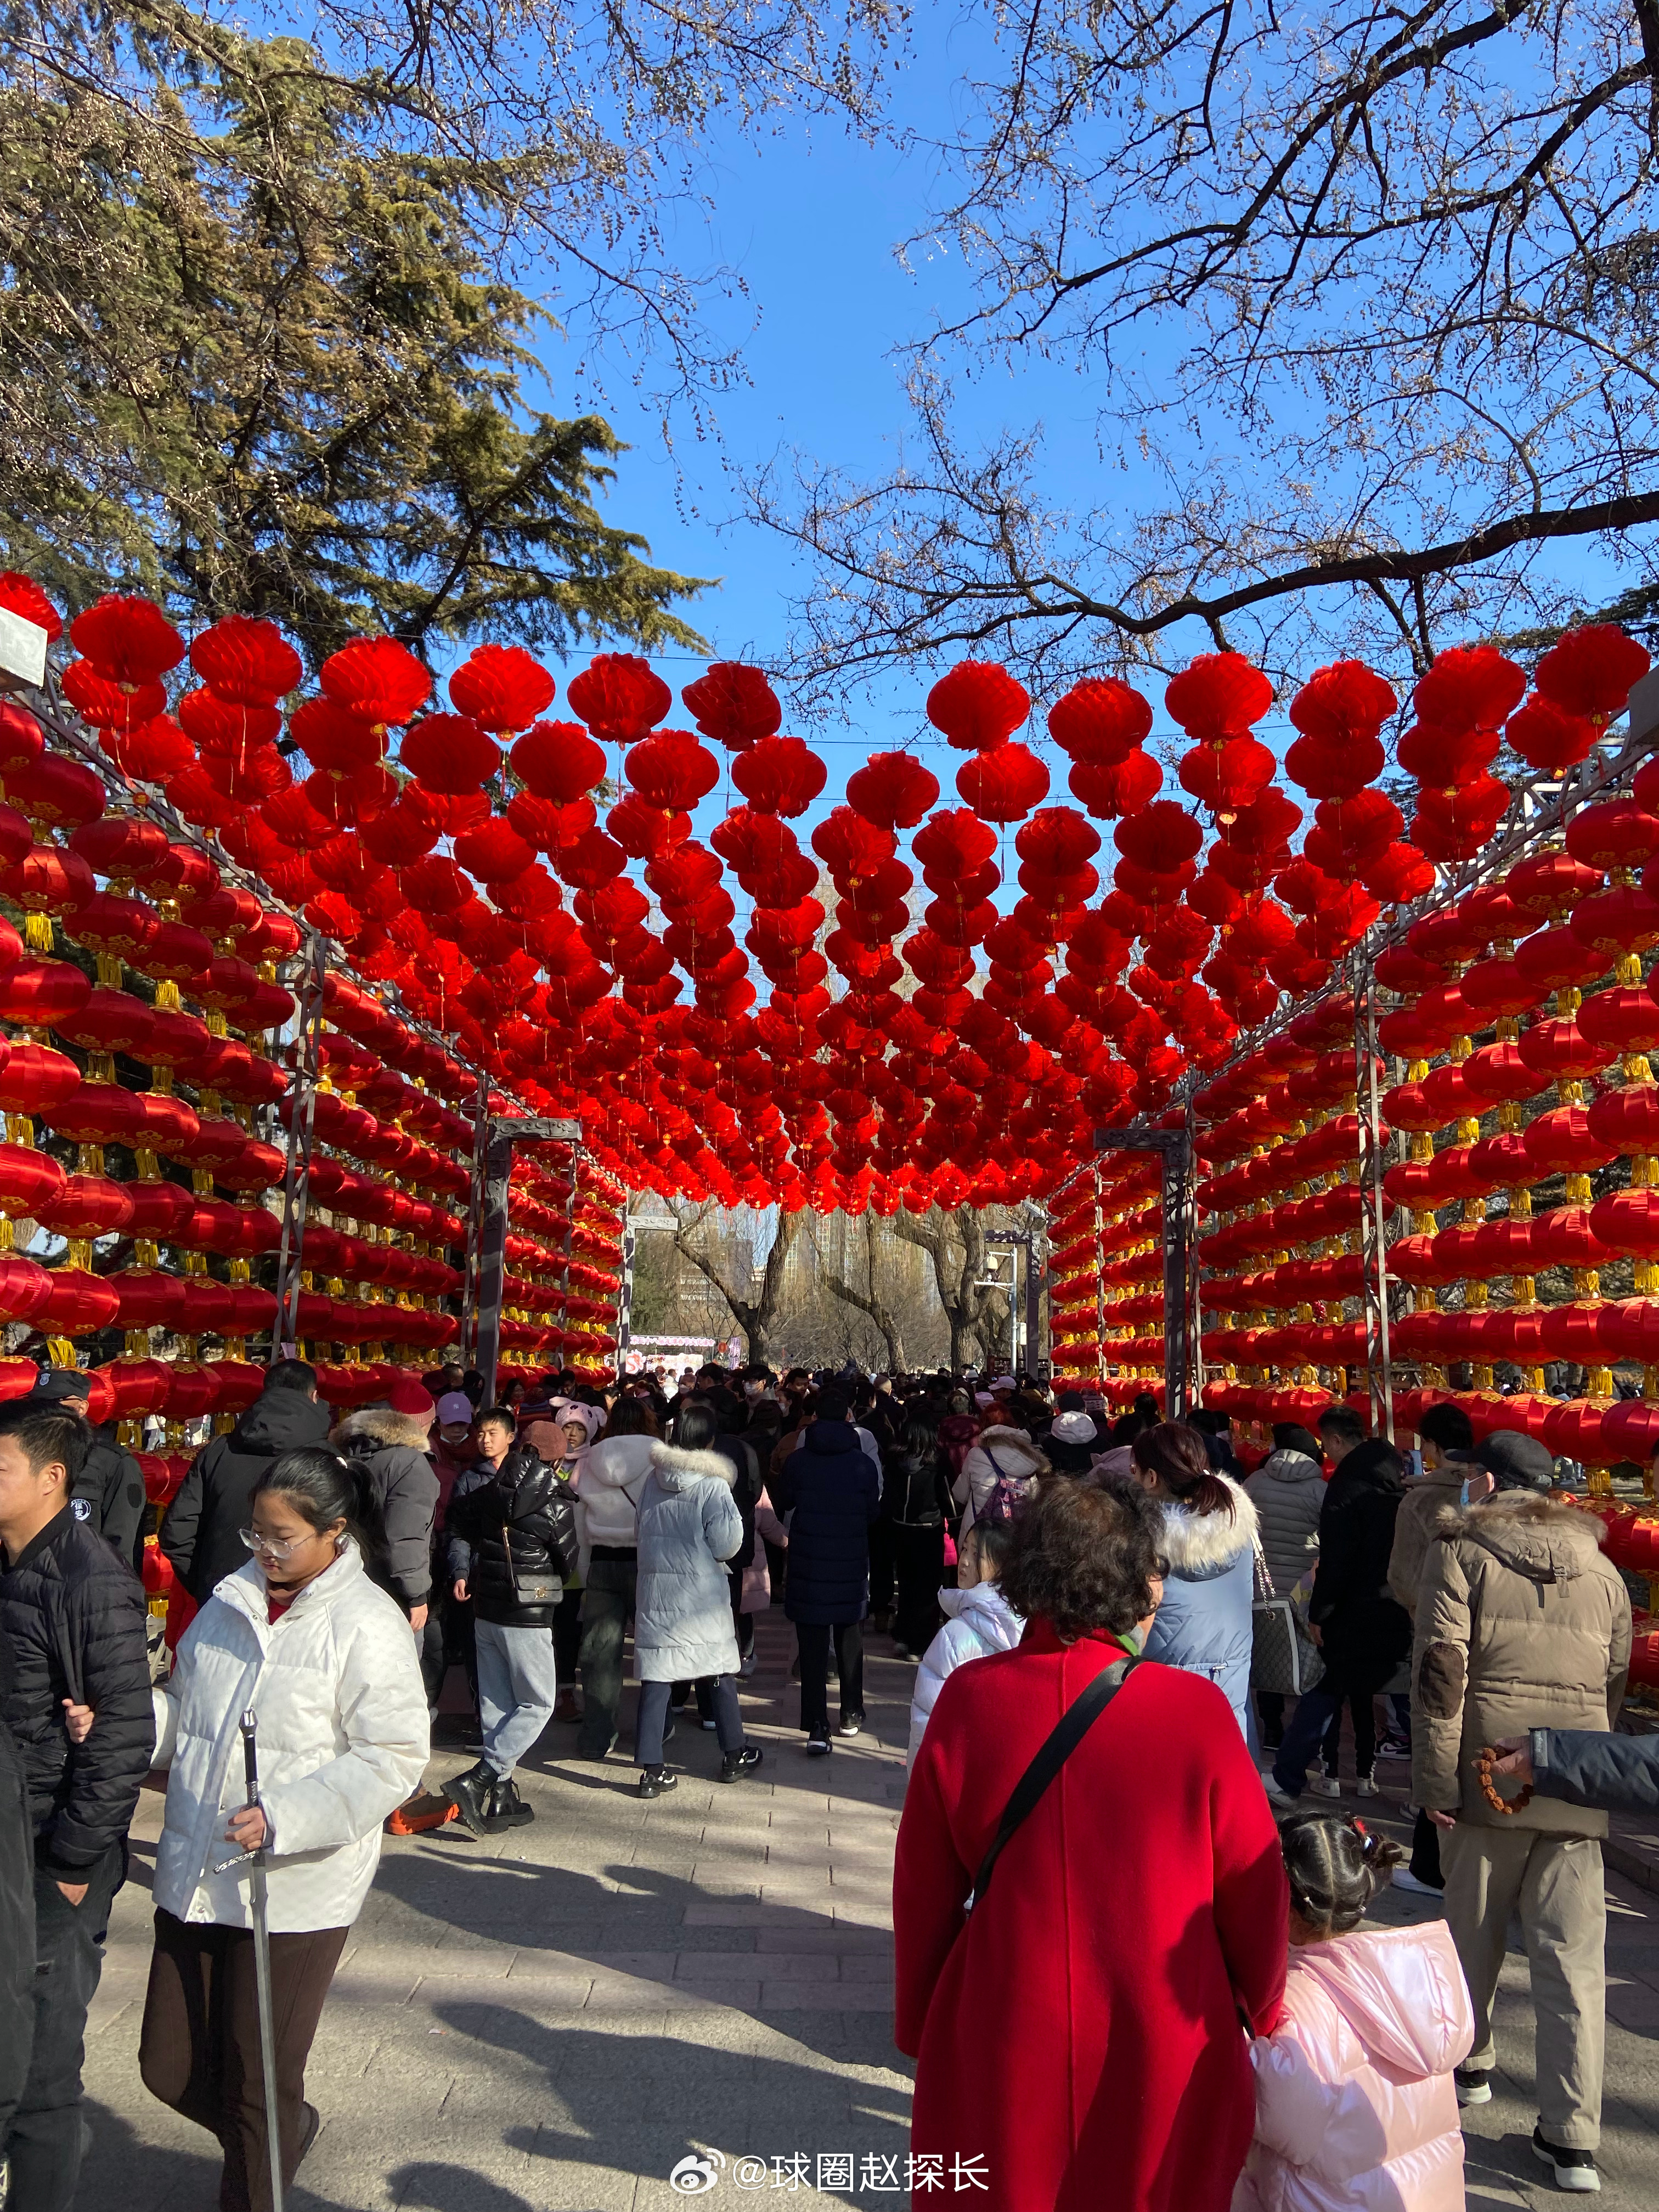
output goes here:
[[650, 1475], [639, 1498], [639, 1582], [633, 1648], [639, 1663], [635, 1761], [639, 1796], [655, 1798], [679, 1783], [664, 1765], [668, 1692], [677, 1681], [712, 1683], [721, 1745], [721, 1781], [752, 1774], [761, 1754], [743, 1741], [737, 1705], [737, 1630], [728, 1559], [743, 1542], [732, 1500], [737, 1469], [714, 1451], [717, 1416], [688, 1400], [675, 1416], [672, 1444], [650, 1447]]

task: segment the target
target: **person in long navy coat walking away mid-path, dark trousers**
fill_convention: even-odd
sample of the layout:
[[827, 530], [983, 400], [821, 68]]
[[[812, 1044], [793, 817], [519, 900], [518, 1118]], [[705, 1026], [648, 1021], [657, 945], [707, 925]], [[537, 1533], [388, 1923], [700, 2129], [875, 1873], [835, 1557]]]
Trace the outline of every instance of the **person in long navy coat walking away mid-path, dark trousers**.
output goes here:
[[845, 1394], [827, 1385], [816, 1420], [774, 1475], [772, 1504], [790, 1524], [783, 1610], [801, 1646], [801, 1728], [807, 1754], [830, 1752], [830, 1646], [841, 1683], [838, 1734], [865, 1725], [865, 1613], [869, 1524], [880, 1506], [876, 1469], [847, 1420]]

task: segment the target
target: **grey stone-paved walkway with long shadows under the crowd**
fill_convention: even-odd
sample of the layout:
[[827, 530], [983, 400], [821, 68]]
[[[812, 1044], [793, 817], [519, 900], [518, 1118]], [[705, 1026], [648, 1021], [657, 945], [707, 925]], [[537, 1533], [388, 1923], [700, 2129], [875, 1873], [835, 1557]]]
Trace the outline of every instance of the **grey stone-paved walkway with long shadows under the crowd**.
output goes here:
[[[887, 1650], [885, 1639], [872, 1639]], [[553, 1725], [524, 1774], [531, 1827], [467, 1843], [453, 1827], [387, 1840], [312, 2053], [323, 2112], [292, 2212], [661, 2212], [688, 2154], [719, 2152], [714, 2205], [905, 2208], [909, 2066], [891, 2046], [889, 1876], [911, 1668], [867, 1659], [872, 1728], [807, 1761], [787, 1683], [792, 1635], [761, 1619], [745, 1725], [759, 1783], [717, 1785], [712, 1734], [681, 1717], [672, 1796], [641, 1805], [633, 1767], [566, 1754]], [[434, 1756], [434, 1778], [471, 1761]], [[1398, 1818], [1405, 1767], [1385, 1801]], [[1148, 1776], [1148, 1787], [1157, 1778]], [[93, 2011], [86, 2212], [208, 2212], [217, 2150], [137, 2075], [148, 1869], [161, 1801], [146, 1794]], [[1133, 1818], [1133, 1807], [1126, 1809]], [[1610, 1880], [1608, 2212], [1659, 2203], [1659, 1896]], [[1391, 1891], [1380, 1918], [1431, 1911]], [[1511, 1953], [1493, 2104], [1469, 2117], [1475, 2212], [1559, 2201], [1528, 2150], [1526, 1964]], [[987, 2095], [995, 2093], [993, 2077]], [[739, 2159], [768, 2163], [741, 2192]], [[841, 2172], [818, 2159], [849, 2159]], [[772, 2188], [805, 2161], [796, 2188]], [[867, 2163], [869, 2161], [869, 2163]], [[889, 2166], [887, 2161], [896, 2161]], [[796, 2168], [799, 2170], [799, 2168]], [[852, 2174], [849, 2185], [843, 2181]], [[940, 2203], [991, 2197], [949, 2192]], [[1102, 2181], [1102, 2212], [1110, 2185]], [[22, 2212], [22, 2208], [20, 2208]]]

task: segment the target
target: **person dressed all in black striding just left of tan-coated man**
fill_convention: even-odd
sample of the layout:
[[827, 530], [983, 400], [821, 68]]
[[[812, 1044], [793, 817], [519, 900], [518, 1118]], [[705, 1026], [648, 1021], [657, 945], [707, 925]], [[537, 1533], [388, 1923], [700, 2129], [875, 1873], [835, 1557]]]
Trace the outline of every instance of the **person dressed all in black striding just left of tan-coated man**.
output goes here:
[[1307, 1783], [1307, 1763], [1327, 1739], [1321, 1796], [1336, 1796], [1332, 1723], [1347, 1701], [1354, 1717], [1354, 1770], [1360, 1796], [1376, 1796], [1374, 1697], [1411, 1650], [1411, 1617], [1389, 1590], [1394, 1517], [1405, 1495], [1405, 1462], [1394, 1444], [1371, 1438], [1349, 1451], [1325, 1489], [1318, 1515], [1318, 1566], [1307, 1606], [1325, 1674], [1285, 1730], [1267, 1776], [1274, 1805], [1294, 1805]]

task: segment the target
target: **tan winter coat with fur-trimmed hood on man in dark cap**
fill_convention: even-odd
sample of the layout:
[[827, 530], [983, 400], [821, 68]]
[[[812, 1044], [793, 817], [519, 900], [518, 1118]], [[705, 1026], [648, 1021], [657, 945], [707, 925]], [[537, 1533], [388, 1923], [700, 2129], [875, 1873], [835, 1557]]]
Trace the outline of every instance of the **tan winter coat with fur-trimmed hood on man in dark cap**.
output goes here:
[[1606, 1836], [1608, 1816], [1535, 1796], [1495, 1814], [1475, 1754], [1528, 1728], [1606, 1734], [1630, 1666], [1630, 1597], [1601, 1522], [1531, 1491], [1440, 1513], [1418, 1590], [1411, 1796], [1471, 1827]]

